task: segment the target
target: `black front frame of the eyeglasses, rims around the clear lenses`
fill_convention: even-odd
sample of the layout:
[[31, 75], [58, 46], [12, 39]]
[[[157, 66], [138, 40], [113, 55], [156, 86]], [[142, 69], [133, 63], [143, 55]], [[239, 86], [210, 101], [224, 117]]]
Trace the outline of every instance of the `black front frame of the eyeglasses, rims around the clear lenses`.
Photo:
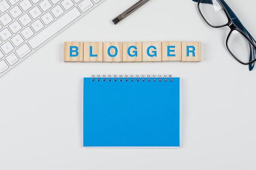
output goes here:
[[[202, 18], [203, 18], [203, 20], [209, 25], [209, 26], [211, 26], [211, 27], [213, 27], [213, 28], [221, 28], [221, 27], [224, 27], [224, 26], [229, 26], [229, 28], [231, 29], [231, 31], [229, 32], [229, 35], [227, 36], [227, 40], [226, 40], [226, 46], [227, 46], [227, 49], [229, 50], [229, 53], [238, 61], [238, 62], [240, 62], [241, 64], [244, 64], [244, 65], [249, 65], [249, 64], [253, 64], [254, 62], [256, 62], [256, 58], [254, 58], [254, 60], [252, 60], [252, 61], [250, 61], [250, 62], [242, 62], [242, 61], [240, 61], [233, 53], [232, 53], [232, 51], [229, 49], [229, 46], [228, 46], [228, 41], [229, 41], [229, 38], [230, 38], [230, 35], [231, 35], [231, 33], [233, 32], [233, 31], [238, 31], [239, 33], [241, 33], [245, 38], [246, 38], [246, 40], [250, 43], [250, 48], [252, 48], [251, 47], [251, 45], [253, 46], [253, 48], [254, 49], [250, 49], [251, 50], [251, 53], [252, 52], [254, 52], [254, 51], [256, 51], [256, 44], [254, 44], [254, 42], [252, 41], [252, 40], [254, 40], [253, 38], [252, 38], [252, 35], [250, 35], [249, 33], [249, 36], [251, 36], [251, 38], [247, 35], [247, 34], [245, 34], [241, 29], [239, 29], [239, 27], [238, 26], [236, 26], [236, 24], [232, 21], [232, 19], [231, 19], [231, 17], [230, 17], [230, 15], [229, 15], [229, 13], [228, 13], [228, 11], [227, 11], [227, 9], [225, 8], [225, 6], [223, 5], [223, 3], [220, 1], [220, 0], [216, 0], [219, 4], [220, 4], [220, 6], [222, 7], [222, 9], [224, 10], [224, 12], [225, 12], [225, 14], [227, 15], [227, 19], [228, 19], [228, 22], [227, 22], [227, 24], [224, 24], [224, 25], [221, 25], [221, 26], [213, 26], [213, 25], [211, 25], [211, 24], [209, 24], [209, 22], [207, 22], [207, 20], [204, 18], [204, 15], [202, 14], [202, 12], [201, 12], [201, 10], [200, 10], [200, 3], [201, 3], [201, 1], [202, 0], [199, 0], [198, 1], [198, 10], [199, 10], [199, 13], [200, 13], [200, 15], [202, 16]], [[210, 3], [209, 3], [210, 4]], [[239, 20], [238, 20], [239, 21]], [[240, 23], [241, 24], [241, 23]], [[241, 24], [242, 25], [242, 24]], [[243, 25], [242, 25], [243, 26]], [[243, 26], [244, 27], [244, 26]], [[246, 30], [247, 31], [247, 30]], [[248, 32], [248, 31], [247, 31]], [[252, 55], [252, 54], [251, 54]]]

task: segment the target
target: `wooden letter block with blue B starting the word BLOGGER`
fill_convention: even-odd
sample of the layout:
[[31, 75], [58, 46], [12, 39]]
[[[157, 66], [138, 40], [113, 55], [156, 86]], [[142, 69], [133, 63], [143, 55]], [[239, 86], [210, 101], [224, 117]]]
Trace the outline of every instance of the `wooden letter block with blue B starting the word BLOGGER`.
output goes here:
[[64, 62], [83, 62], [83, 42], [64, 42]]

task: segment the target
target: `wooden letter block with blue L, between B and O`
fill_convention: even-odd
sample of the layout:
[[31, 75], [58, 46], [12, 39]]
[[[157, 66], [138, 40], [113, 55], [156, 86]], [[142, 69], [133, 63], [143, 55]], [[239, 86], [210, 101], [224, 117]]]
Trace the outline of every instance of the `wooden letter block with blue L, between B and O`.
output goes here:
[[83, 62], [103, 62], [103, 42], [84, 42]]

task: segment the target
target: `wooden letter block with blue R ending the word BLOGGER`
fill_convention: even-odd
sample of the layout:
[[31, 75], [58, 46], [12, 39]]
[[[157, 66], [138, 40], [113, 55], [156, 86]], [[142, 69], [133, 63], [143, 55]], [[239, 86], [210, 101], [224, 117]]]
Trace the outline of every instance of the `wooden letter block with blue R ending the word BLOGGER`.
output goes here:
[[182, 62], [201, 62], [201, 42], [182, 42]]

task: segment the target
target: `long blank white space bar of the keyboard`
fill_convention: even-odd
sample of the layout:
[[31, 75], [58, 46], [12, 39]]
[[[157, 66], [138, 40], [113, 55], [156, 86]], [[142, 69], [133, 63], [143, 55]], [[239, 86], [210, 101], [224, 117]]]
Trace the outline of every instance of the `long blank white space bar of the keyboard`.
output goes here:
[[74, 21], [76, 18], [78, 18], [81, 15], [79, 10], [74, 7], [67, 13], [65, 13], [61, 18], [50, 24], [48, 27], [46, 27], [43, 31], [35, 35], [33, 38], [31, 38], [28, 43], [32, 47], [32, 49], [36, 49], [36, 47], [40, 46], [51, 38], [53, 35], [58, 33], [61, 29], [63, 29], [65, 26], [70, 24], [70, 22]]

